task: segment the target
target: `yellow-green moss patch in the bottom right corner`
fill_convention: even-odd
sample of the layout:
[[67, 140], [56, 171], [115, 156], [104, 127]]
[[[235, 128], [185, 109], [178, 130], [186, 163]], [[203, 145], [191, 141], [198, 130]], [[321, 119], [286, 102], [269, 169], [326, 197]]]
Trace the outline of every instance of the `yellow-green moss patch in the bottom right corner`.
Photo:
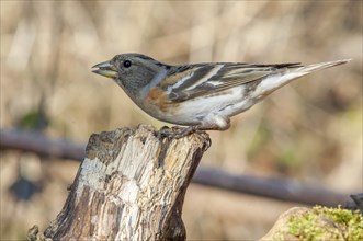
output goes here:
[[314, 207], [303, 215], [292, 215], [285, 230], [275, 240], [363, 240], [363, 217], [359, 211]]

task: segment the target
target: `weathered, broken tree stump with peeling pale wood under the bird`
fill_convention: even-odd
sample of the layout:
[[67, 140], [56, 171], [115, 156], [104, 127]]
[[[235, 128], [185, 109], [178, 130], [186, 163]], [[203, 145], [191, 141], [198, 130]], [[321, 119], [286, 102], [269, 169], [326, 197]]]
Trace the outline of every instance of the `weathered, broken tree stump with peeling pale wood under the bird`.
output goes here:
[[147, 125], [92, 135], [66, 204], [43, 238], [185, 240], [185, 191], [209, 145], [206, 133], [177, 139]]

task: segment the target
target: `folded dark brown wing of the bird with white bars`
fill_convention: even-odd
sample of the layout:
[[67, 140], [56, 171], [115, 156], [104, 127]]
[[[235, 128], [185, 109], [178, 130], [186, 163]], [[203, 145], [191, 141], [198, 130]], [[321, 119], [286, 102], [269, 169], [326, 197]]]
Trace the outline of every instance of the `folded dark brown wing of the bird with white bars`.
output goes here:
[[158, 85], [167, 90], [171, 102], [182, 102], [258, 81], [271, 73], [296, 67], [302, 66], [297, 62], [277, 65], [216, 62], [174, 66]]

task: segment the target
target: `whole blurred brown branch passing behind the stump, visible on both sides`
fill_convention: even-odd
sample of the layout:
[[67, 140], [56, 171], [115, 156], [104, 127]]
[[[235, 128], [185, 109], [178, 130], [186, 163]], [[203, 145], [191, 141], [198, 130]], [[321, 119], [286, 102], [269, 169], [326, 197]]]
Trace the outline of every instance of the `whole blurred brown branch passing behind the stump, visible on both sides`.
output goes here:
[[[41, 133], [19, 129], [0, 130], [0, 148], [32, 151], [43, 156], [82, 160], [86, 156], [86, 145], [77, 145], [65, 139], [50, 139]], [[247, 193], [262, 197], [274, 198], [300, 204], [320, 204], [336, 206], [345, 204], [349, 196], [339, 194], [317, 184], [303, 184], [292, 180], [263, 179], [250, 175], [232, 175], [220, 170], [198, 168], [194, 183]]]

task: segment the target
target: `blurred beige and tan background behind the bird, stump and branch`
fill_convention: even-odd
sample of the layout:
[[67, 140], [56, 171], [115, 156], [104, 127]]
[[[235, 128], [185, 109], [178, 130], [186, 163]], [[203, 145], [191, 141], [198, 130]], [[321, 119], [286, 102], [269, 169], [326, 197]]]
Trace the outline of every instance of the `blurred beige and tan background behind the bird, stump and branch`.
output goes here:
[[[92, 133], [160, 123], [91, 66], [121, 53], [168, 64], [314, 64], [302, 78], [209, 131], [201, 168], [362, 192], [362, 1], [1, 1], [1, 128], [86, 144]], [[79, 162], [1, 150], [1, 239], [55, 219]], [[300, 206], [191, 185], [190, 240], [256, 240]]]

